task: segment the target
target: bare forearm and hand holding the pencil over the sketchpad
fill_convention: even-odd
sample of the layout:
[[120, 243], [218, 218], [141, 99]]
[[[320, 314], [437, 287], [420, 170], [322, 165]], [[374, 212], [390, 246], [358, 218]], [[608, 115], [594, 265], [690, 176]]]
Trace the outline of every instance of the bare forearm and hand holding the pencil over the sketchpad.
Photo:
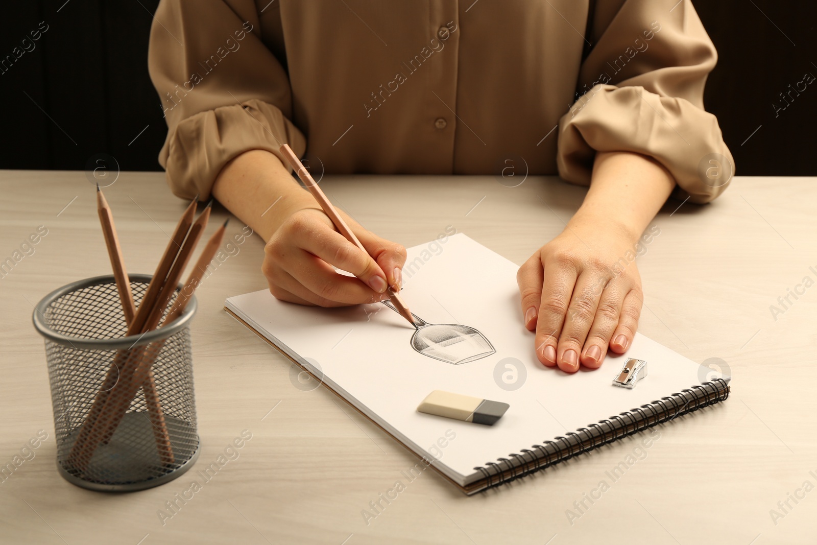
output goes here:
[[212, 194], [267, 241], [261, 271], [282, 301], [349, 306], [385, 299], [388, 286], [400, 289], [405, 249], [338, 211], [368, 254], [350, 243], [269, 151], [249, 150], [230, 160]]

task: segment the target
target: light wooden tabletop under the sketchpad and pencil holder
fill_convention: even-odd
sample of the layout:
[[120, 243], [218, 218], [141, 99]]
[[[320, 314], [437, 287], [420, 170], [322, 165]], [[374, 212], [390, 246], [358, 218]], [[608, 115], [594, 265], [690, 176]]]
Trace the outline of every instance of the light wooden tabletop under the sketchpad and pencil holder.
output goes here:
[[[776, 319], [770, 311], [804, 277], [817, 280], [815, 182], [739, 177], [707, 207], [667, 203], [655, 220], [660, 235], [639, 258], [641, 332], [692, 360], [725, 360], [729, 400], [661, 427], [646, 458], [616, 482], [605, 471], [639, 436], [471, 498], [426, 471], [366, 525], [361, 511], [416, 458], [324, 388], [293, 386], [292, 364], [226, 315], [225, 297], [266, 288], [257, 236], [197, 292], [192, 325], [199, 467], [249, 430], [239, 458], [164, 521], [158, 511], [190, 488], [193, 473], [133, 494], [63, 480], [31, 314], [52, 289], [109, 274], [95, 189], [83, 172], [0, 172], [0, 261], [47, 229], [0, 279], [0, 467], [47, 433], [0, 483], [0, 542], [815, 543], [817, 288], [790, 297]], [[322, 187], [406, 246], [452, 225], [516, 263], [560, 232], [584, 194], [541, 177], [508, 188], [491, 176], [344, 176]], [[185, 203], [162, 173], [123, 172], [105, 195], [127, 270], [151, 273]], [[225, 217], [216, 208], [213, 221]], [[242, 227], [233, 221], [228, 236]], [[574, 502], [600, 480], [609, 490], [571, 525], [566, 511], [578, 514]], [[782, 516], [773, 520], [772, 509]]]

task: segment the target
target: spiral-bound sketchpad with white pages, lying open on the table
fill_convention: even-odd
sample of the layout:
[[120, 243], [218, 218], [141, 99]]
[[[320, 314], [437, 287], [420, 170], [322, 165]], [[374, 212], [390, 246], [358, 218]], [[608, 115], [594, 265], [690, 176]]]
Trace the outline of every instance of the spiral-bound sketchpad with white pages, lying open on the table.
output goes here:
[[[230, 297], [225, 308], [417, 454], [417, 467], [434, 467], [467, 494], [729, 395], [728, 377], [641, 334], [600, 369], [543, 367], [522, 323], [517, 269], [462, 234], [409, 248], [403, 296], [429, 324], [420, 329], [382, 303], [325, 309], [268, 290]], [[632, 390], [612, 384], [627, 357], [648, 364]], [[510, 408], [493, 426], [418, 413], [435, 390]]]

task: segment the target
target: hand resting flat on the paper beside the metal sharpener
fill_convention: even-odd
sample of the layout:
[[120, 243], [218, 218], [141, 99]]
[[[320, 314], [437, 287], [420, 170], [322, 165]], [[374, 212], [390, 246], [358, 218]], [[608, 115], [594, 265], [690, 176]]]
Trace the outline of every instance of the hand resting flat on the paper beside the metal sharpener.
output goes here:
[[516, 275], [539, 361], [568, 373], [579, 363], [598, 368], [608, 347], [626, 351], [643, 302], [639, 235], [580, 213]]

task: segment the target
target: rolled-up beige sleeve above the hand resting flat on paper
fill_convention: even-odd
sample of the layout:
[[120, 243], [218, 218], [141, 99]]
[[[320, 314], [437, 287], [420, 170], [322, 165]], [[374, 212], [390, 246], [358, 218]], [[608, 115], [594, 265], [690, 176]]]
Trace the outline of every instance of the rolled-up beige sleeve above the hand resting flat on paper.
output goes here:
[[557, 164], [588, 185], [596, 151], [648, 155], [675, 177], [674, 196], [715, 199], [734, 175], [703, 85], [717, 53], [690, 0], [599, 0], [578, 100], [559, 123]]

